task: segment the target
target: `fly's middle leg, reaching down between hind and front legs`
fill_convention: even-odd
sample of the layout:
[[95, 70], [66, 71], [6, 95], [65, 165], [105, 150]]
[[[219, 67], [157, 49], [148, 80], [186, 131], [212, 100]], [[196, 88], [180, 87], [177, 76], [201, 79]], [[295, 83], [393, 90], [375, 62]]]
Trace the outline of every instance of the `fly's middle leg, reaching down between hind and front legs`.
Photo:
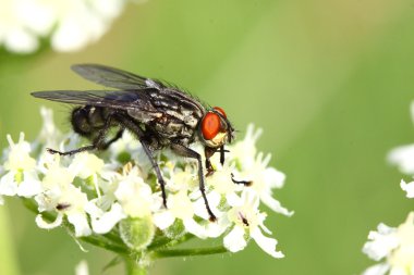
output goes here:
[[149, 148], [147, 141], [145, 141], [145, 134], [144, 134], [143, 129], [136, 124], [135, 121], [131, 120], [129, 116], [125, 116], [122, 114], [115, 114], [114, 118], [123, 127], [125, 127], [126, 129], [134, 133], [137, 136], [137, 138], [139, 139], [139, 142], [143, 146], [144, 151], [145, 151], [146, 155], [148, 157], [149, 162], [153, 165], [153, 168], [156, 172], [158, 183], [161, 186], [162, 203], [163, 203], [163, 207], [167, 208], [166, 182], [163, 180], [163, 177], [161, 175], [161, 171], [160, 171], [157, 162], [154, 159], [154, 154], [153, 154], [151, 149]]

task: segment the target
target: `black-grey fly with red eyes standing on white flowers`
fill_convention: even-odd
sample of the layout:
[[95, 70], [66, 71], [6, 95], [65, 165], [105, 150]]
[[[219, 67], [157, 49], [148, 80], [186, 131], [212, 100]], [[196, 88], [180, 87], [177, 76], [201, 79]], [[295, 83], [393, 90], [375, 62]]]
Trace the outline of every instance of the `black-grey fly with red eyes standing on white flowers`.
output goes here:
[[[202, 155], [190, 148], [202, 142], [206, 157], [207, 175], [214, 173], [210, 158], [217, 151], [224, 162], [224, 145], [234, 138], [234, 129], [226, 112], [202, 104], [188, 93], [160, 80], [142, 77], [119, 68], [98, 64], [73, 65], [72, 70], [87, 80], [113, 90], [50, 90], [35, 91], [32, 96], [51, 101], [78, 105], [73, 109], [71, 123], [75, 133], [88, 138], [92, 145], [50, 153], [72, 155], [88, 150], [105, 150], [122, 137], [124, 130], [141, 141], [161, 187], [163, 205], [167, 208], [166, 182], [154, 152], [170, 148], [178, 155], [196, 159], [199, 190], [210, 221], [216, 216], [210, 210], [205, 192]], [[110, 129], [117, 128], [113, 137]]]

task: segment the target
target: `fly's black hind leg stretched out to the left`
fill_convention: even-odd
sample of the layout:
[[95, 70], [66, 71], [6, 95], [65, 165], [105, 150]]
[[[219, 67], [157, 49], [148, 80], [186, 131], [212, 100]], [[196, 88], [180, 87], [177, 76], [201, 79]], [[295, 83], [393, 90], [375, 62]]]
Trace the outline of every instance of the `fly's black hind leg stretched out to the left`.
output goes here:
[[117, 141], [118, 139], [120, 139], [122, 137], [122, 133], [123, 133], [123, 129], [120, 129], [112, 139], [110, 139], [109, 141], [105, 140], [105, 137], [106, 137], [109, 128], [111, 127], [111, 120], [112, 120], [111, 116], [107, 117], [105, 125], [104, 125], [104, 128], [101, 128], [99, 130], [98, 136], [94, 139], [94, 141], [90, 146], [84, 146], [84, 147], [77, 148], [75, 150], [66, 151], [66, 152], [61, 152], [61, 151], [53, 150], [50, 148], [47, 148], [46, 150], [52, 154], [58, 153], [60, 155], [72, 155], [72, 154], [84, 152], [84, 151], [108, 149], [108, 147], [111, 143], [113, 143], [114, 141]]

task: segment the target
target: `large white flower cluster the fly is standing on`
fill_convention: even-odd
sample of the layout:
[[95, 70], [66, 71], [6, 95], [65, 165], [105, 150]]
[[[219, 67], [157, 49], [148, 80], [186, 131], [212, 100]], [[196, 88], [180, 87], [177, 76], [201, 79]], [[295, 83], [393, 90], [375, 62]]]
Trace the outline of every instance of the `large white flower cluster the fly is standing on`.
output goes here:
[[[264, 225], [266, 213], [259, 204], [284, 215], [293, 213], [272, 197], [272, 190], [283, 186], [284, 174], [268, 167], [269, 154], [257, 153], [255, 142], [261, 130], [248, 126], [243, 140], [228, 146], [224, 165], [218, 155], [211, 159], [216, 171], [206, 177], [206, 191], [217, 221], [210, 222], [198, 189], [197, 162], [169, 150], [159, 152], [167, 183], [166, 209], [151, 164], [131, 134], [125, 133], [99, 158], [89, 152], [60, 157], [45, 148], [68, 151], [81, 141], [75, 134], [59, 133], [51, 111], [42, 109], [41, 114], [44, 128], [32, 145], [23, 134], [17, 142], [8, 136], [10, 149], [0, 171], [0, 197], [35, 199], [39, 227], [53, 228], [68, 221], [76, 237], [115, 230], [134, 250], [144, 250], [160, 234], [172, 239], [186, 233], [202, 239], [224, 236], [223, 245], [231, 252], [254, 239], [270, 255], [283, 257], [276, 249], [277, 240], [266, 236], [271, 233]], [[203, 152], [203, 148], [193, 149]], [[232, 177], [249, 184], [234, 184]], [[54, 221], [45, 218], [46, 213], [53, 214]], [[138, 224], [145, 236], [132, 236], [131, 224]]]

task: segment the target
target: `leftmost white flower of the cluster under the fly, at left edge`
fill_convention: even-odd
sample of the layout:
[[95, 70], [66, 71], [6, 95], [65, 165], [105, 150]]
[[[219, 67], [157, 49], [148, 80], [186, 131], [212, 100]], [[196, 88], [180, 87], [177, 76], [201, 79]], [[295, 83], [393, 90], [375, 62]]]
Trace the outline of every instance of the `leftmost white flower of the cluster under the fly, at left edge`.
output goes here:
[[14, 143], [8, 135], [10, 151], [7, 155], [3, 170], [7, 172], [0, 179], [0, 195], [33, 197], [40, 192], [40, 180], [38, 179], [36, 160], [31, 153], [31, 145], [24, 141], [24, 134], [20, 134], [17, 143]]

